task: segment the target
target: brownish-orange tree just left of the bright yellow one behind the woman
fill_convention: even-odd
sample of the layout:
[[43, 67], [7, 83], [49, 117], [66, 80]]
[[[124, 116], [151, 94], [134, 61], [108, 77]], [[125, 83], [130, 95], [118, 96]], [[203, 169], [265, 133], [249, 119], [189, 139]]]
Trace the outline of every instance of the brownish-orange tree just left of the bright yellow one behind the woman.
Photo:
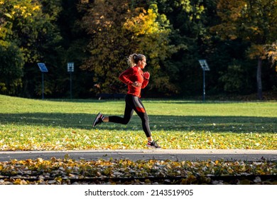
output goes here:
[[81, 26], [90, 36], [87, 45], [90, 55], [81, 68], [93, 73], [94, 93], [120, 92], [124, 88], [119, 85], [118, 75], [128, 67], [126, 56], [130, 53], [130, 36], [123, 29], [124, 21], [132, 14], [129, 3], [126, 0], [96, 0], [83, 2], [81, 9], [85, 9]]

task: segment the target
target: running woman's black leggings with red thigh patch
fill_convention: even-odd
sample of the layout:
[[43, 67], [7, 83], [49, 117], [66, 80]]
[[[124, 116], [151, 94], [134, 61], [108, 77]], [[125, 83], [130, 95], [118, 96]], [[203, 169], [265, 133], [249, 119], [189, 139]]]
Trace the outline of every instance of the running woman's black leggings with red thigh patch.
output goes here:
[[150, 131], [149, 122], [148, 122], [148, 115], [141, 102], [141, 99], [139, 99], [139, 97], [136, 97], [134, 95], [126, 95], [125, 102], [126, 102], [126, 105], [125, 105], [124, 117], [122, 118], [118, 116], [110, 116], [109, 122], [128, 124], [135, 111], [136, 114], [138, 114], [139, 117], [141, 118], [143, 131], [145, 132], [147, 137], [150, 137], [151, 131]]

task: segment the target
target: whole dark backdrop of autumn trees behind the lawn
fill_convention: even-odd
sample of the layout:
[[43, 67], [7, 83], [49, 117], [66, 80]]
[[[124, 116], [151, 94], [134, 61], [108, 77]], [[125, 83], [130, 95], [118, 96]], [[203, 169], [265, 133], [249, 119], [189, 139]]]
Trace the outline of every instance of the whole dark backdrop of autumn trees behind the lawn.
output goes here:
[[[131, 53], [146, 55], [143, 95], [276, 92], [276, 0], [0, 0], [0, 93], [40, 97], [37, 63], [48, 66], [45, 94], [76, 98], [124, 93], [118, 80]], [[234, 75], [236, 74], [236, 75]]]

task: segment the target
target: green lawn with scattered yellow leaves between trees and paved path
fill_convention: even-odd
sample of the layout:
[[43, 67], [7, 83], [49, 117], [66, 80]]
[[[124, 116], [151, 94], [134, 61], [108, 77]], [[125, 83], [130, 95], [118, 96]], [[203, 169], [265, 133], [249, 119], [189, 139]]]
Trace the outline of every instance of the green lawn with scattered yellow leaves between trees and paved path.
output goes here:
[[[277, 102], [142, 99], [163, 149], [277, 149]], [[92, 129], [124, 100], [23, 99], [0, 95], [0, 150], [146, 149], [139, 117]]]

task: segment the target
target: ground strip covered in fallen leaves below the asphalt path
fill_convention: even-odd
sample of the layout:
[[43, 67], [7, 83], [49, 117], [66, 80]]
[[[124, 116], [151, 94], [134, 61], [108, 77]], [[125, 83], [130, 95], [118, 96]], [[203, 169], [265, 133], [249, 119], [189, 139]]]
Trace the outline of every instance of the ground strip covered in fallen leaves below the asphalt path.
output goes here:
[[0, 185], [277, 184], [277, 162], [75, 161], [51, 158], [0, 162]]

